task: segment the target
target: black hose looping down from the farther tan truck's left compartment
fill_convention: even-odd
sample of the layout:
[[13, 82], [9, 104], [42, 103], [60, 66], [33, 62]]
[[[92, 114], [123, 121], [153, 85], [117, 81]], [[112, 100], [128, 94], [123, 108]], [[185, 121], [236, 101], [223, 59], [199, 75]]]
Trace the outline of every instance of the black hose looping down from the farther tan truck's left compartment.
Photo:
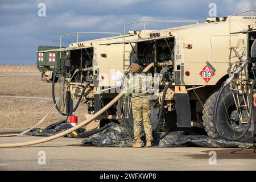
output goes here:
[[[56, 73], [53, 75], [53, 80], [52, 80], [52, 101], [53, 101], [53, 104], [56, 104], [56, 100], [55, 100], [55, 78], [56, 78], [56, 75], [57, 73], [60, 71], [60, 69], [62, 69], [62, 67], [60, 67], [59, 69], [57, 69]], [[68, 115], [71, 115], [72, 113], [74, 113], [77, 109], [77, 107], [79, 106], [81, 100], [82, 100], [82, 96], [84, 95], [84, 92], [86, 90], [86, 88], [92, 83], [92, 80], [89, 81], [85, 87], [82, 89], [82, 92], [81, 92], [81, 95], [79, 97], [79, 100], [77, 101], [76, 103], [76, 106], [74, 107], [74, 109], [70, 112], [70, 113], [63, 113], [63, 111], [60, 110], [60, 108], [56, 105], [56, 109], [57, 111], [61, 114], [61, 115], [64, 115], [64, 116], [68, 116]]]

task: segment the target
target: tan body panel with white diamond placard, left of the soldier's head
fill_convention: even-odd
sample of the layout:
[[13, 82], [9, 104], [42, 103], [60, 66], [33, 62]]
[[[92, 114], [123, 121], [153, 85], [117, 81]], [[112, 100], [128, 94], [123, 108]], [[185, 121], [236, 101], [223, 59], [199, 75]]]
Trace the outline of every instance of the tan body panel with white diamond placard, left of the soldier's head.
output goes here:
[[[152, 30], [151, 30], [152, 31]], [[132, 31], [133, 32], [133, 31]], [[143, 31], [144, 32], [144, 31]], [[146, 30], [145, 33], [150, 32]], [[125, 36], [125, 40], [136, 39], [138, 34], [130, 33]], [[95, 40], [87, 40], [84, 42], [72, 43], [69, 47], [78, 47], [83, 44], [84, 47], [93, 46], [93, 71], [99, 71], [99, 85], [101, 87], [115, 87], [120, 86], [122, 73], [124, 69], [130, 65], [130, 52], [132, 47], [130, 44], [112, 44], [123, 40], [123, 35], [113, 36], [110, 38], [102, 38]], [[132, 44], [134, 46], [134, 44]], [[125, 47], [125, 57], [123, 57], [123, 50]], [[105, 54], [106, 57], [101, 55]], [[125, 60], [124, 60], [125, 59]], [[102, 79], [102, 76], [104, 79]]]

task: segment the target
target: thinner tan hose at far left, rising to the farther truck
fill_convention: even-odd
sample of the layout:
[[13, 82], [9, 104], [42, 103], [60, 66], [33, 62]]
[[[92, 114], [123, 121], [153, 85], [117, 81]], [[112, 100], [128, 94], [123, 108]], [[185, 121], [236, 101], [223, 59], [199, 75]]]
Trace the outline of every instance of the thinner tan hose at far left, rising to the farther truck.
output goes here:
[[[65, 90], [63, 91], [63, 93], [61, 94], [60, 98], [63, 96], [63, 94], [67, 91], [68, 86], [73, 78], [73, 76], [76, 75], [76, 73], [79, 72], [79, 69], [76, 69], [76, 71], [73, 73], [71, 79], [68, 82], [67, 88], [65, 88]], [[33, 127], [23, 131], [22, 133], [19, 134], [5, 134], [5, 135], [0, 135], [0, 137], [15, 137], [15, 136], [19, 136], [19, 135], [24, 135], [26, 133], [28, 133], [28, 131], [31, 131], [32, 129], [34, 129], [35, 127], [39, 126], [42, 122], [44, 122], [44, 120], [46, 120], [46, 118], [48, 117], [48, 115], [51, 113], [51, 111], [55, 108], [55, 106], [59, 103], [60, 99], [56, 102], [56, 104], [51, 108], [51, 110], [49, 110], [49, 112], [44, 115], [44, 117], [42, 119], [39, 120], [39, 122], [37, 122]]]

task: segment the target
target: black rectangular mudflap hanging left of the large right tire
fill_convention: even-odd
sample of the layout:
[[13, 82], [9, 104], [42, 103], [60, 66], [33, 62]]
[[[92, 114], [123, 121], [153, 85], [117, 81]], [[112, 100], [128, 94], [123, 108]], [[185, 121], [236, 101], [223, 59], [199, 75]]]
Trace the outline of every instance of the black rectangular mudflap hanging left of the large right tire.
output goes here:
[[188, 94], [177, 93], [175, 96], [177, 127], [191, 127], [191, 111]]

